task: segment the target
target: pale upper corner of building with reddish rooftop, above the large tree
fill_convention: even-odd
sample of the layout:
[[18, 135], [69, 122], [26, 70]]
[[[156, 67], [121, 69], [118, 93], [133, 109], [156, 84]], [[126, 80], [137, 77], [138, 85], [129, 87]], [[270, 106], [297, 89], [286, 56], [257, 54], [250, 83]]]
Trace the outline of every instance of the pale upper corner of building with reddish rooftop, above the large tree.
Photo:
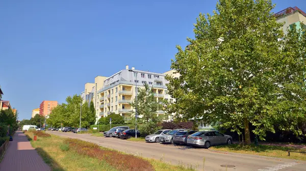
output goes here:
[[274, 16], [277, 22], [285, 22], [283, 27], [285, 34], [287, 34], [288, 27], [293, 29], [294, 24], [296, 25], [296, 29], [301, 28], [300, 24], [306, 29], [306, 13], [297, 7], [286, 8], [285, 10], [275, 13]]

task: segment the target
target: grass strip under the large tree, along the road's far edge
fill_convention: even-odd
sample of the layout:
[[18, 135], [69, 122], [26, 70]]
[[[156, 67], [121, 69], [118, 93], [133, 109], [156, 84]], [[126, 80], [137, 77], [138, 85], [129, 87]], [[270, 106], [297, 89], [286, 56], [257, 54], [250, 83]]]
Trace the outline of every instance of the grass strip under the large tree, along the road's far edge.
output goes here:
[[219, 151], [242, 153], [242, 154], [253, 154], [253, 155], [260, 155], [260, 156], [306, 160], [305, 153], [290, 153], [290, 156], [288, 156], [288, 151], [306, 152], [305, 149], [296, 149], [292, 147], [267, 146], [267, 145], [240, 146], [238, 144], [233, 144], [230, 146], [228, 145], [215, 146], [215, 147], [211, 147], [211, 149], [219, 150]]

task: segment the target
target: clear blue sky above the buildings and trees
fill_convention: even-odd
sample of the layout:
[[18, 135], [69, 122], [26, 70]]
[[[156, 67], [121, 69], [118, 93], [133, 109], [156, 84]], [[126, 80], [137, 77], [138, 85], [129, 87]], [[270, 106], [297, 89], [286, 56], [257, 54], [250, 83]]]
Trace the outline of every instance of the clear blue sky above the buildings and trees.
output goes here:
[[[43, 100], [62, 103], [97, 75], [125, 65], [168, 71], [209, 1], [0, 1], [0, 85], [19, 119]], [[304, 0], [274, 0], [273, 12]]]

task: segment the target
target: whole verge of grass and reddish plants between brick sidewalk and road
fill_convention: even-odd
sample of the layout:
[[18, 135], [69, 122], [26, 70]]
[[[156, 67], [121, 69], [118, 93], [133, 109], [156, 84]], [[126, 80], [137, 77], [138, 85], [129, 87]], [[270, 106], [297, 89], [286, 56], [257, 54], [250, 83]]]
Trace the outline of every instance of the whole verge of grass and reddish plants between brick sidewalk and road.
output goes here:
[[[33, 137], [32, 132], [27, 132]], [[80, 139], [63, 138], [56, 135], [37, 137], [32, 146], [42, 156], [52, 170], [177, 170], [194, 171], [183, 164], [171, 165], [162, 160], [145, 159], [116, 150], [99, 147]], [[133, 164], [134, 163], [134, 164]]]

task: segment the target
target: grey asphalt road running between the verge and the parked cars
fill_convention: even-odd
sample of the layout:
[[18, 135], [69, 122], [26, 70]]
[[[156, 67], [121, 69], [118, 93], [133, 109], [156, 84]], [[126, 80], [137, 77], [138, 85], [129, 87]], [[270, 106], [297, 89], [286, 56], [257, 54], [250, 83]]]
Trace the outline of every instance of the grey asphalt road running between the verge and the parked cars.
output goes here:
[[[198, 170], [259, 170], [259, 171], [285, 171], [306, 170], [306, 161], [273, 158], [257, 155], [219, 152], [210, 149], [192, 148], [186, 146], [163, 145], [158, 143], [132, 142], [124, 139], [110, 137], [95, 137], [90, 134], [74, 134], [71, 132], [52, 132], [63, 137], [79, 138], [96, 143], [100, 146], [116, 149], [125, 153], [154, 158], [171, 164], [192, 165]], [[205, 162], [203, 163], [203, 160]], [[221, 165], [234, 165], [235, 167], [221, 167]], [[169, 170], [170, 171], [170, 170]]]

